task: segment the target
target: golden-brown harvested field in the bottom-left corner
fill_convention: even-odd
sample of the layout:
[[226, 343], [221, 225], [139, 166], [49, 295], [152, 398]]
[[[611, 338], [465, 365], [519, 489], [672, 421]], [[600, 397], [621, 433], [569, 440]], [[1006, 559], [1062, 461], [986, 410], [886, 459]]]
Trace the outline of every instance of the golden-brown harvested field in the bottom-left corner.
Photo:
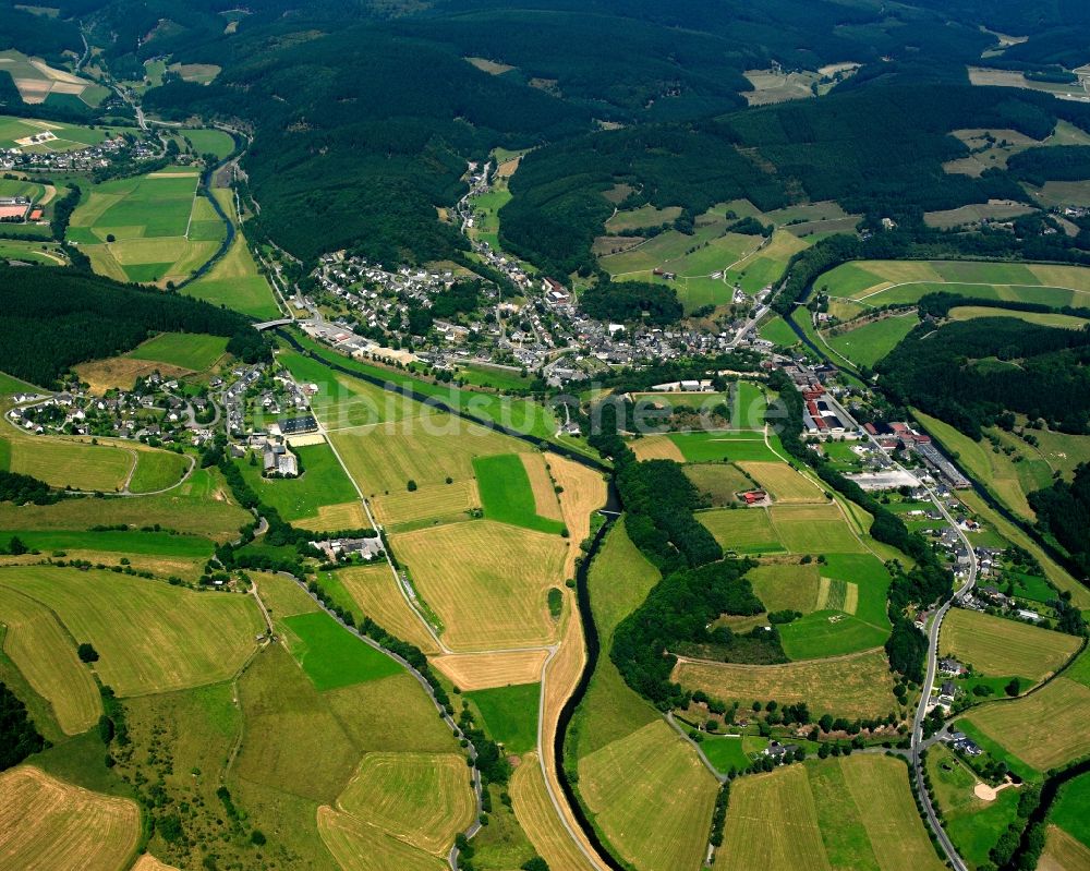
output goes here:
[[0, 868], [121, 871], [140, 832], [134, 801], [81, 789], [32, 766], [0, 774]]

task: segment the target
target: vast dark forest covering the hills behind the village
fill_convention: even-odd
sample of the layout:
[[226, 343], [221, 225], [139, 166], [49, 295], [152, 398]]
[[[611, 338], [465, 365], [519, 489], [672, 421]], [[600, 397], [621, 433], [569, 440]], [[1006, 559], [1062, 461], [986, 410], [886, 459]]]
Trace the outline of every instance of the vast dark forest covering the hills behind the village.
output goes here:
[[[210, 85], [168, 76], [145, 105], [251, 128], [254, 232], [304, 259], [336, 247], [389, 264], [457, 254], [465, 242], [436, 207], [464, 191], [467, 161], [497, 145], [545, 146], [516, 177], [502, 239], [566, 275], [593, 268], [590, 245], [610, 209], [600, 192], [619, 182], [690, 217], [740, 196], [763, 208], [833, 197], [898, 217], [1015, 192], [1008, 173], [943, 172], [943, 160], [966, 152], [952, 130], [1040, 138], [1057, 114], [1078, 123], [1090, 111], [968, 87], [965, 64], [994, 41], [982, 16], [1047, 34], [1073, 14], [1000, 15], [968, 0], [955, 10], [932, 0], [892, 10], [831, 0], [261, 0], [231, 13], [230, 33], [227, 0], [58, 5], [62, 20], [84, 23], [119, 78], [142, 77], [144, 60], [168, 55], [222, 68]], [[465, 58], [494, 62], [494, 74]], [[742, 110], [744, 70], [847, 60], [862, 69], [828, 98]]]

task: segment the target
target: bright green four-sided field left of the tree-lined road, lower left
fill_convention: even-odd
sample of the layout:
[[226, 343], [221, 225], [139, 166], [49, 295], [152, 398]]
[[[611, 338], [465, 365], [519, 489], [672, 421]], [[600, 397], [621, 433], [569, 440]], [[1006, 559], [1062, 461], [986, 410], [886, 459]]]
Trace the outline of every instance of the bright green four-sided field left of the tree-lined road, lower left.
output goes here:
[[340, 626], [324, 612], [284, 617], [289, 648], [318, 690], [378, 680], [401, 672], [393, 660]]

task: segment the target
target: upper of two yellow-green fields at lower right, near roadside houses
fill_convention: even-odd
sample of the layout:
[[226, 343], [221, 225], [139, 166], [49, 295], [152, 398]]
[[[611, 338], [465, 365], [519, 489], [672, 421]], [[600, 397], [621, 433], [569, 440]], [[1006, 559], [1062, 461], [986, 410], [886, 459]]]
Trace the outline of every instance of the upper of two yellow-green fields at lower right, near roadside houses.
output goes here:
[[938, 637], [949, 653], [990, 677], [1018, 676], [1039, 681], [1059, 668], [1079, 649], [1075, 636], [953, 608]]

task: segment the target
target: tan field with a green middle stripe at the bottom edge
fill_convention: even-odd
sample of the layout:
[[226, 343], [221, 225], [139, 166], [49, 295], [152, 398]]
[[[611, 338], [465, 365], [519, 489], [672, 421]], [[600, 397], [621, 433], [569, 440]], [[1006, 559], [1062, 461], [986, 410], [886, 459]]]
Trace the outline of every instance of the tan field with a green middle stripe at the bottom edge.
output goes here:
[[943, 863], [895, 758], [810, 760], [737, 781], [715, 868], [881, 871]]

